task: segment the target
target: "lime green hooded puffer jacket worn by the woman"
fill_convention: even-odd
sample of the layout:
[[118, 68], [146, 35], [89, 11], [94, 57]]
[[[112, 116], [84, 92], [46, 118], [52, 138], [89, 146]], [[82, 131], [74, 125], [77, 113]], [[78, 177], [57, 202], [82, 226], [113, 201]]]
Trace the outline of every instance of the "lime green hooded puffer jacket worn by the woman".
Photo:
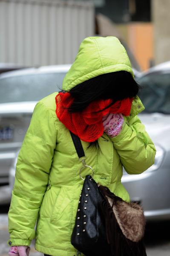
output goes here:
[[[117, 38], [85, 38], [63, 80], [63, 89], [70, 90], [92, 77], [120, 70], [133, 76], [127, 52]], [[9, 209], [8, 243], [30, 245], [36, 239], [35, 248], [42, 253], [75, 256], [70, 237], [83, 185], [78, 174], [82, 164], [69, 130], [55, 114], [56, 95], [37, 103], [20, 149]], [[154, 163], [156, 153], [136, 116], [142, 110], [144, 106], [136, 97], [120, 134], [110, 138], [104, 133], [98, 139], [101, 153], [87, 149], [89, 143], [82, 141], [86, 164], [94, 169], [95, 181], [126, 201], [130, 198], [121, 184], [122, 166], [129, 174], [140, 174]], [[84, 177], [87, 174], [88, 169]]]

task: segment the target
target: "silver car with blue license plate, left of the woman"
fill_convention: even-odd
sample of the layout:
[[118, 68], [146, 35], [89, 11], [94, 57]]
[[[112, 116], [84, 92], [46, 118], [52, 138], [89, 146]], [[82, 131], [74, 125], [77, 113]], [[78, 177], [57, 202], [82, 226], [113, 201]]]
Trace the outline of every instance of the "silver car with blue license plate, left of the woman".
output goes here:
[[20, 149], [36, 103], [62, 87], [70, 65], [11, 71], [0, 75], [0, 184]]

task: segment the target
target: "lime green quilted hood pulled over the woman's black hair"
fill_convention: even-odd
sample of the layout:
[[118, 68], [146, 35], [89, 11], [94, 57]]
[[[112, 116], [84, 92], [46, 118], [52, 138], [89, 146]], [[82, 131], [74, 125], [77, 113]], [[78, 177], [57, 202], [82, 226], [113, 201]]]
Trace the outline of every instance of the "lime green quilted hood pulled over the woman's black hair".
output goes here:
[[63, 90], [95, 76], [125, 70], [133, 74], [127, 52], [118, 38], [88, 37], [82, 41], [78, 55], [63, 80]]

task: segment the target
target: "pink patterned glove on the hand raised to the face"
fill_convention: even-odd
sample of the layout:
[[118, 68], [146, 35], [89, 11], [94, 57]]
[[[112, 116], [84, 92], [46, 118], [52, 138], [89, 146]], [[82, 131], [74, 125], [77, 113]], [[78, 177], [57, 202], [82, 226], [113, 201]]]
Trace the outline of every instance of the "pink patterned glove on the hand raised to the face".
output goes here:
[[124, 118], [121, 113], [109, 113], [103, 116], [104, 132], [110, 137], [115, 137], [120, 133], [123, 123]]

